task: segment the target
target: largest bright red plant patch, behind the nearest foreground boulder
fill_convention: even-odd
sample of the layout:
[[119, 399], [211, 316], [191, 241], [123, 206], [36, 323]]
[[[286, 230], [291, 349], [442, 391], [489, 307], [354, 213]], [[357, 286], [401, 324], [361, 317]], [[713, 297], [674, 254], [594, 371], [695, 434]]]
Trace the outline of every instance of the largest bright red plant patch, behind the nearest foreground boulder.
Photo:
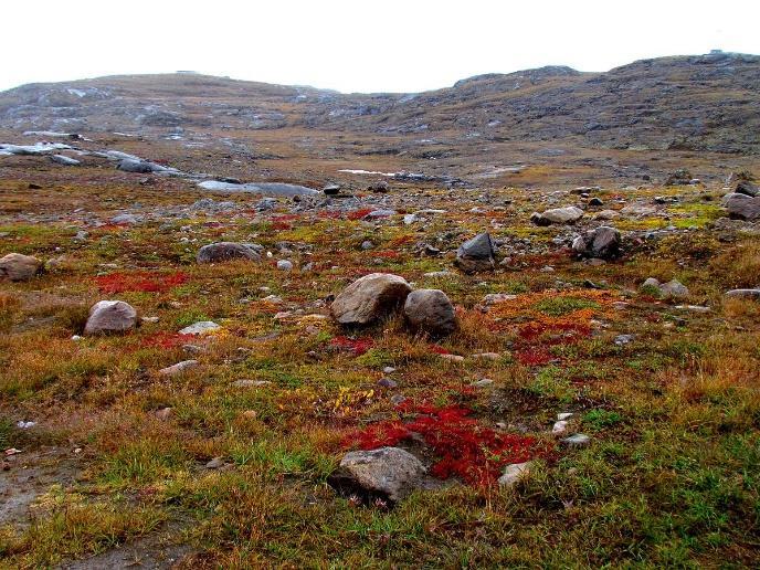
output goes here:
[[455, 476], [477, 486], [494, 483], [505, 465], [524, 463], [549, 451], [536, 437], [500, 433], [482, 425], [469, 418], [467, 408], [423, 404], [404, 410], [416, 414], [413, 421], [377, 423], [351, 434], [347, 443], [358, 442], [362, 450], [376, 450], [421, 435], [437, 456], [431, 468], [433, 476], [442, 479]]

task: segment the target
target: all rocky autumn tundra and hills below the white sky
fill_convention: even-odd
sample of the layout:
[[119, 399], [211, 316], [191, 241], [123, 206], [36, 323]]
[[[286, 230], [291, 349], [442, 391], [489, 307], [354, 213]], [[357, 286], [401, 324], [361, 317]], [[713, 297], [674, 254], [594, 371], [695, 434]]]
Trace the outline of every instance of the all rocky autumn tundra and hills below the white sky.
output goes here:
[[759, 88], [0, 94], [0, 567], [757, 567]]

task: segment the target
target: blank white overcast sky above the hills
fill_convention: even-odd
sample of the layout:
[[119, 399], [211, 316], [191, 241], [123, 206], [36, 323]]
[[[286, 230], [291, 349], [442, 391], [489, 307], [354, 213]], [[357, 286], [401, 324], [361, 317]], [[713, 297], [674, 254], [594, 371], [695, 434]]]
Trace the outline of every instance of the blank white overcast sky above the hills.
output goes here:
[[416, 92], [541, 65], [760, 53], [760, 0], [3, 0], [0, 89], [194, 70]]

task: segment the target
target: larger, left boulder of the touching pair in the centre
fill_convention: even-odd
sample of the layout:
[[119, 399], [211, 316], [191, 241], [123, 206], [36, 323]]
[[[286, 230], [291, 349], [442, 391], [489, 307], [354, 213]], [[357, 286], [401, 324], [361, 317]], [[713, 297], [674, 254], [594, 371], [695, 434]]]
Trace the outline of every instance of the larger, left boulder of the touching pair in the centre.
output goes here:
[[412, 291], [403, 277], [372, 273], [355, 281], [332, 302], [332, 316], [341, 325], [368, 325], [395, 310]]

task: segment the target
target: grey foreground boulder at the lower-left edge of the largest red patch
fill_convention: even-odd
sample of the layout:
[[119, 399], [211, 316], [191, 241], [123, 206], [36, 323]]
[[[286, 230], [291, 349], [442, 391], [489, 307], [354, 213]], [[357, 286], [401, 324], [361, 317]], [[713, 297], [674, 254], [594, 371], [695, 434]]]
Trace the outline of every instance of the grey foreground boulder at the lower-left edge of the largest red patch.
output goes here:
[[420, 486], [425, 467], [400, 447], [347, 453], [340, 461], [338, 477], [371, 494], [398, 502]]

